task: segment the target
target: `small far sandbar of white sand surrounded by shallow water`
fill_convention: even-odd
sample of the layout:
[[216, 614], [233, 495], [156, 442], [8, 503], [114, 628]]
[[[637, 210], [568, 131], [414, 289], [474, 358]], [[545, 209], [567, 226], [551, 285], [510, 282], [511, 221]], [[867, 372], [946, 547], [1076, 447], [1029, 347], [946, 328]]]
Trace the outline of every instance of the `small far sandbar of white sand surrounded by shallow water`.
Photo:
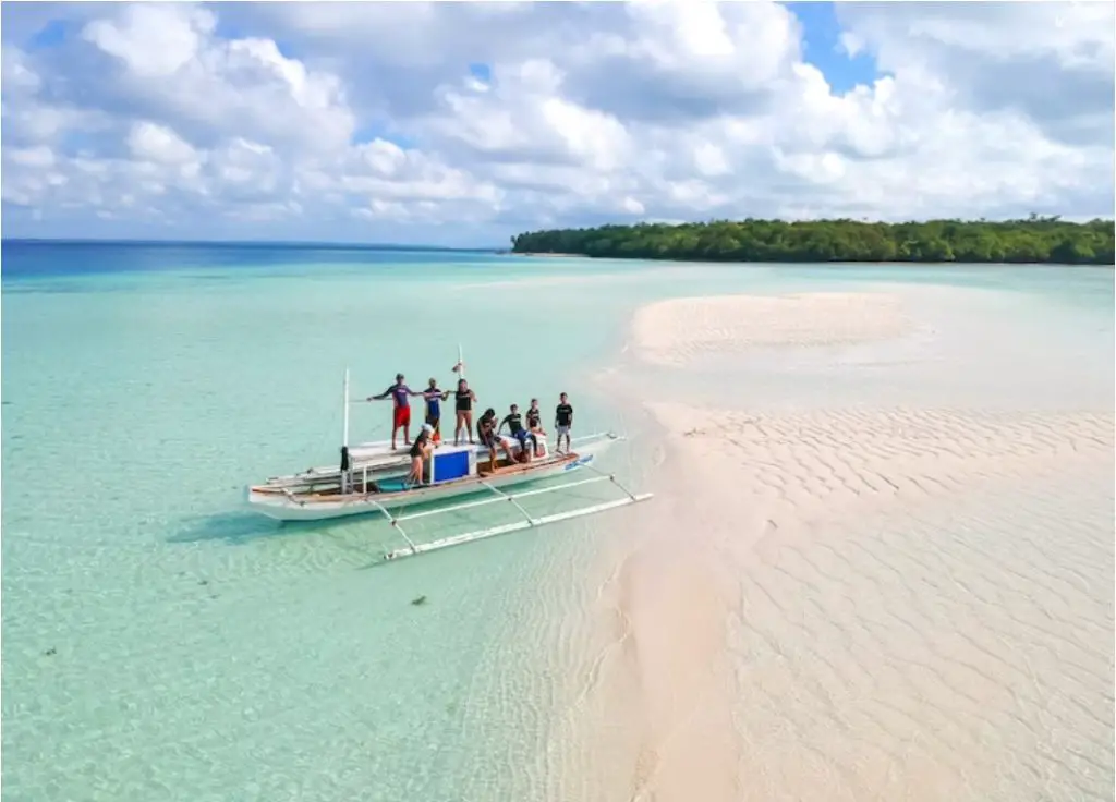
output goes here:
[[642, 359], [675, 366], [705, 354], [848, 345], [911, 329], [897, 297], [867, 292], [679, 298], [643, 307], [632, 326]]

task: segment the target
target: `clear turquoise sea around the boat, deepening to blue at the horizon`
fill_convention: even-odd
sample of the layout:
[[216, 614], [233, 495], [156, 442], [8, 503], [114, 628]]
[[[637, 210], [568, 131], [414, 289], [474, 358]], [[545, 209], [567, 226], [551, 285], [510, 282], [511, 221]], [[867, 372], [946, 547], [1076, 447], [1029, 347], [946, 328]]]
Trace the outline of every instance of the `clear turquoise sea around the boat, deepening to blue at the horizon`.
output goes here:
[[[898, 281], [980, 287], [1067, 320], [1113, 305], [1110, 270], [1062, 268], [4, 243], [2, 269], [13, 800], [526, 799], [560, 770], [547, 755], [569, 711], [542, 667], [561, 660], [540, 650], [564, 637], [548, 622], [591, 593], [578, 567], [629, 519], [373, 567], [397, 544], [374, 520], [243, 513], [246, 483], [334, 462], [346, 366], [354, 395], [397, 370], [449, 383], [460, 344], [482, 407], [568, 390], [580, 433], [638, 443], [642, 416], [587, 377], [617, 363], [651, 300]], [[1081, 359], [1112, 368], [1095, 348]], [[386, 436], [388, 416], [356, 407], [354, 439]], [[610, 464], [639, 484], [645, 453]]]

